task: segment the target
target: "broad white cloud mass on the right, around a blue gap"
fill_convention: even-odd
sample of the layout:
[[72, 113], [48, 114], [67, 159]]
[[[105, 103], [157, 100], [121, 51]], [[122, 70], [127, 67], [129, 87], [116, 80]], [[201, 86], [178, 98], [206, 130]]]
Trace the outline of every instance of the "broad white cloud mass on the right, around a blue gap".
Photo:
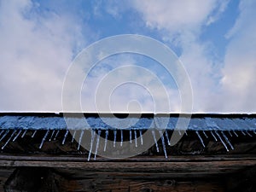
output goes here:
[[180, 58], [193, 85], [195, 112], [255, 113], [255, 1], [241, 0], [240, 15], [226, 35], [230, 44], [224, 61], [213, 58], [207, 43], [199, 39], [201, 29], [218, 20], [229, 1], [134, 2], [149, 27], [182, 48]]

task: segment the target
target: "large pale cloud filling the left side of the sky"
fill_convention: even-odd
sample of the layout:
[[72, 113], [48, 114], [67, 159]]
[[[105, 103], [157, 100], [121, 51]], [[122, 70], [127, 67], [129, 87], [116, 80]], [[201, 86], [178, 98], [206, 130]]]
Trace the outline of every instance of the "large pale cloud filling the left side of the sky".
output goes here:
[[28, 0], [0, 3], [0, 110], [61, 110], [61, 87], [80, 26]]

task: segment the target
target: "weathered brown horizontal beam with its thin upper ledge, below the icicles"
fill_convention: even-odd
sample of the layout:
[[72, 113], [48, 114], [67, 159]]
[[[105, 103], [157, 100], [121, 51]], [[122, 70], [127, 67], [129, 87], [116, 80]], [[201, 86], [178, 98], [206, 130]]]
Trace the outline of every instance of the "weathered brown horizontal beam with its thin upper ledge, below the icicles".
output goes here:
[[256, 157], [176, 157], [171, 160], [161, 161], [159, 158], [151, 161], [134, 158], [113, 161], [82, 161], [75, 157], [20, 157], [1, 156], [0, 165], [5, 167], [33, 166], [71, 168], [81, 172], [125, 172], [125, 173], [165, 173], [172, 175], [212, 175], [238, 172], [242, 169], [256, 166]]

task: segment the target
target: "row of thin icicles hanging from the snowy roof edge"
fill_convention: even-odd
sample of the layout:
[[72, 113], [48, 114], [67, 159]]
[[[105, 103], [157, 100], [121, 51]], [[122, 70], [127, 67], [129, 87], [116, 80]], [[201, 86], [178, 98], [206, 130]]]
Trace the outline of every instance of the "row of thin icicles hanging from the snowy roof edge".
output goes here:
[[[7, 137], [7, 135], [9, 134], [9, 131], [10, 130], [2, 130], [0, 131], [0, 142], [3, 140], [4, 137]], [[12, 141], [12, 142], [15, 142], [15, 140], [20, 136], [21, 134], [21, 138], [23, 138], [25, 135], [26, 135], [26, 131], [28, 130], [14, 130], [10, 135], [9, 135], [9, 138], [8, 140], [6, 141], [6, 143], [3, 144], [3, 148], [6, 147], [6, 145]], [[32, 133], [32, 138], [35, 137], [36, 133], [37, 133], [38, 130], [35, 130], [33, 131]], [[51, 133], [50, 133], [51, 131]], [[135, 140], [135, 146], [138, 147], [138, 142], [137, 142], [137, 131], [139, 132], [139, 137], [140, 137], [140, 143], [141, 145], [143, 145], [143, 131], [142, 130], [130, 130], [130, 143], [132, 143], [132, 131], [133, 131], [133, 135], [134, 135], [134, 140]], [[65, 141], [67, 139], [67, 135], [68, 135], [68, 130], [65, 132], [64, 134], [64, 137], [62, 139], [62, 144], [64, 145], [65, 144]], [[159, 152], [159, 146], [158, 146], [158, 143], [157, 143], [157, 139], [156, 139], [156, 136], [155, 136], [155, 130], [152, 130], [152, 137], [154, 139], [154, 143], [155, 143], [155, 147], [156, 147], [156, 150], [157, 152]], [[181, 132], [178, 131], [179, 134], [181, 135]], [[229, 148], [231, 149], [234, 149], [233, 145], [230, 143], [230, 139], [229, 137], [227, 137], [227, 135], [224, 133], [224, 131], [209, 131], [211, 133], [211, 136], [212, 138], [218, 142], [218, 140], [224, 145], [224, 148], [227, 150], [227, 152], [230, 151]], [[230, 137], [238, 137], [238, 131], [227, 131], [229, 136]], [[252, 131], [251, 133], [249, 131], [239, 131], [241, 132], [241, 134], [243, 136], [249, 136], [249, 137], [253, 137], [253, 134], [256, 134], [256, 131]], [[17, 133], [15, 135], [15, 133]], [[44, 134], [44, 137], [42, 139], [42, 142], [40, 143], [39, 145], [39, 148], [42, 148], [43, 145], [44, 145], [44, 142], [49, 139], [49, 142], [51, 140], [56, 140], [56, 137], [59, 135], [60, 133], [60, 130], [47, 130]], [[73, 133], [73, 138], [72, 138], [72, 143], [74, 141], [74, 137], [76, 135], [77, 131], [74, 131]], [[206, 131], [195, 131], [197, 137], [199, 138], [199, 140], [201, 141], [201, 144], [202, 146], [205, 148], [205, 143], [204, 143], [204, 139], [202, 138], [201, 135], [203, 135], [204, 137], [206, 137], [206, 139], [209, 137], [207, 135], [207, 132]], [[202, 134], [201, 134], [202, 133]], [[88, 161], [90, 160], [90, 155], [92, 153], [92, 146], [93, 146], [93, 143], [95, 141], [95, 136], [97, 135], [96, 137], [96, 149], [95, 149], [95, 153], [94, 153], [94, 160], [96, 160], [96, 155], [97, 155], [97, 150], [98, 150], [98, 147], [99, 147], [99, 141], [100, 141], [100, 137], [101, 137], [101, 134], [102, 134], [102, 130], [97, 130], [97, 134], [96, 134], [96, 130], [91, 130], [91, 139], [90, 139], [90, 151], [89, 151], [89, 155], [88, 155]], [[164, 151], [164, 154], [165, 154], [165, 157], [168, 158], [167, 156], [167, 153], [166, 153], [166, 143], [171, 146], [171, 143], [170, 143], [170, 139], [169, 139], [169, 136], [168, 136], [168, 131], [165, 131], [164, 134], [163, 134], [163, 131], [159, 131], [159, 134], [160, 134], [160, 139], [161, 139], [161, 143], [162, 143], [162, 147], [163, 147], [163, 151]], [[185, 134], [187, 134], [187, 132], [185, 131]], [[82, 138], [84, 136], [84, 130], [81, 130], [80, 131], [80, 136], [79, 136], [79, 146], [78, 146], [78, 150], [80, 148], [80, 144], [81, 144], [81, 141], [82, 141]], [[48, 138], [49, 137], [49, 138]], [[116, 145], [116, 137], [117, 137], [117, 130], [114, 130], [113, 131], [113, 148], [115, 148], [115, 145]], [[123, 130], [120, 130], [120, 146], [123, 145]], [[106, 151], [106, 148], [107, 148], [107, 144], [108, 144], [108, 130], [105, 130], [105, 143], [104, 143], [104, 151]]]

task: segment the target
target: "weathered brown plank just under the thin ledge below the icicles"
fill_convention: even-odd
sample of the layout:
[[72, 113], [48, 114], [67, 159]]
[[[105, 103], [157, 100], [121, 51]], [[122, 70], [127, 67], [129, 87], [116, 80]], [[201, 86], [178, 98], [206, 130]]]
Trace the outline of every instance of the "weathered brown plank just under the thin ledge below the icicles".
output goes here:
[[256, 160], [225, 160], [208, 162], [70, 162], [70, 161], [33, 161], [1, 160], [1, 166], [19, 167], [56, 167], [78, 168], [88, 172], [165, 172], [170, 174], [226, 174], [247, 167], [256, 166]]

